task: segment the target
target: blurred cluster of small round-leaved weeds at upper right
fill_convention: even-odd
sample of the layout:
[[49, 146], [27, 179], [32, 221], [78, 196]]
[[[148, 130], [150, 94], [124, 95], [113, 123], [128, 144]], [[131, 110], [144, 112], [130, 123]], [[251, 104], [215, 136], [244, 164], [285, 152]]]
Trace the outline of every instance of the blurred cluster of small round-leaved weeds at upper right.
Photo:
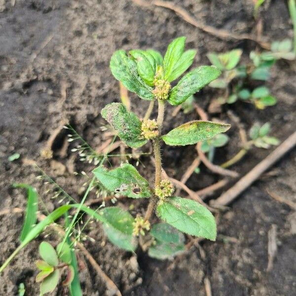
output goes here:
[[250, 81], [266, 81], [270, 77], [270, 68], [279, 59], [294, 60], [292, 41], [285, 39], [271, 44], [271, 50], [258, 53], [252, 51], [250, 59], [252, 63], [239, 65], [242, 55], [241, 49], [234, 49], [217, 54], [210, 52], [207, 57], [211, 63], [222, 71], [222, 77], [212, 81], [209, 86], [225, 90], [225, 94], [219, 98], [221, 104], [233, 104], [238, 99], [252, 103], [257, 109], [265, 109], [277, 103], [277, 99], [270, 95], [267, 87], [259, 86], [250, 90]]

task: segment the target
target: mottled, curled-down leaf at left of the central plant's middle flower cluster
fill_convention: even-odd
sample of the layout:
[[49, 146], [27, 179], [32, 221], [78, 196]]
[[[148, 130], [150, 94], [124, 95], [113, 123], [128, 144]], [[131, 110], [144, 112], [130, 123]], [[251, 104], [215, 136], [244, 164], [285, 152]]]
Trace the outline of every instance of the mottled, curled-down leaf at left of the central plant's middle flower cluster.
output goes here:
[[139, 148], [148, 142], [141, 136], [142, 122], [135, 113], [127, 111], [123, 104], [106, 105], [101, 114], [118, 132], [120, 140], [129, 147]]

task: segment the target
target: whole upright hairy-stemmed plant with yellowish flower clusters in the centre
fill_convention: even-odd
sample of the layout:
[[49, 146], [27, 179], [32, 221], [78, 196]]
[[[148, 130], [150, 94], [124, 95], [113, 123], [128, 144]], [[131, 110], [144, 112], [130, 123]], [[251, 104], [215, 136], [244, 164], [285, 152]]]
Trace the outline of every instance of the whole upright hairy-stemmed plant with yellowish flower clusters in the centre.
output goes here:
[[[150, 230], [152, 240], [148, 253], [159, 259], [172, 257], [184, 250], [182, 232], [210, 240], [215, 240], [217, 233], [215, 219], [205, 206], [191, 199], [173, 196], [174, 185], [161, 178], [161, 143], [170, 146], [192, 145], [211, 139], [230, 127], [229, 124], [194, 120], [165, 135], [161, 133], [166, 104], [182, 104], [221, 74], [214, 66], [200, 66], [185, 74], [172, 87], [171, 82], [191, 66], [196, 54], [195, 50], [184, 51], [185, 39], [179, 37], [173, 40], [164, 58], [157, 51], [140, 49], [131, 50], [128, 54], [124, 50], [118, 50], [111, 57], [110, 68], [116, 79], [141, 99], [151, 101], [149, 110], [154, 101], [158, 103], [156, 119], [150, 119], [148, 112], [141, 120], [121, 103], [111, 103], [101, 112], [127, 146], [139, 148], [152, 142], [155, 184], [150, 185], [128, 163], [112, 170], [99, 166], [93, 171], [96, 178], [111, 191], [130, 198], [150, 199], [145, 217], [137, 216], [134, 219], [125, 212], [126, 219], [121, 222], [116, 217], [118, 212], [114, 215], [111, 213], [117, 207], [105, 208], [105, 214], [110, 211], [111, 219], [104, 228], [114, 244], [127, 250], [136, 248], [136, 236], [145, 235]], [[154, 210], [163, 222], [151, 227], [149, 219]], [[118, 228], [124, 236], [122, 233], [119, 235]]]

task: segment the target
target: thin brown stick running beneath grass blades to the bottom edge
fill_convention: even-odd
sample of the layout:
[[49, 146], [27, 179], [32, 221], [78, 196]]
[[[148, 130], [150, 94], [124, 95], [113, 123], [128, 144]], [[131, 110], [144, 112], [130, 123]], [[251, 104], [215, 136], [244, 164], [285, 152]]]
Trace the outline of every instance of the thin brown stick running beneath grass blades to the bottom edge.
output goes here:
[[[37, 218], [39, 221], [42, 221], [46, 218], [46, 216], [42, 215], [42, 214], [38, 214]], [[57, 233], [59, 233], [61, 235], [65, 235], [65, 231], [57, 224], [51, 224], [50, 228], [52, 228], [53, 230], [55, 230]], [[118, 290], [117, 286], [113, 283], [111, 278], [102, 270], [100, 265], [92, 257], [92, 255], [86, 250], [86, 248], [83, 246], [83, 244], [76, 242], [76, 246], [83, 252], [84, 256], [88, 259], [90, 264], [97, 271], [98, 275], [105, 281], [106, 287], [110, 291], [111, 295], [121, 296], [121, 293]]]

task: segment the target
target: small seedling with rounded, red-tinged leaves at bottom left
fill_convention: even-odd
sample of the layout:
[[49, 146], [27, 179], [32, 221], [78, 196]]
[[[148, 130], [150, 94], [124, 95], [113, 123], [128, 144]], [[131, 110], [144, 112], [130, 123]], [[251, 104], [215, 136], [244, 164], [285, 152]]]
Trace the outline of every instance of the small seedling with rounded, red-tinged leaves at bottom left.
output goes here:
[[[60, 243], [56, 250], [47, 242], [39, 245], [39, 255], [42, 260], [36, 261], [36, 266], [40, 272], [36, 276], [36, 282], [40, 283], [40, 295], [52, 292], [59, 283], [60, 269], [67, 268], [64, 286], [69, 286], [74, 279], [74, 268], [70, 265], [72, 256], [68, 244]], [[59, 265], [59, 262], [64, 264]]]

